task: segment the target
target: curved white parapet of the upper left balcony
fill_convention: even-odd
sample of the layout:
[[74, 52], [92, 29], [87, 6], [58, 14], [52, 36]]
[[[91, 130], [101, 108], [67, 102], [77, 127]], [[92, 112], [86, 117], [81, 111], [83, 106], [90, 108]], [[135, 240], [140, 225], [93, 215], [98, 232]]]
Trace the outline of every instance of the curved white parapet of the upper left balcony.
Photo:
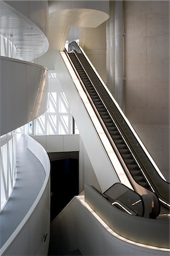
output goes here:
[[47, 72], [40, 65], [0, 56], [0, 135], [45, 112]]

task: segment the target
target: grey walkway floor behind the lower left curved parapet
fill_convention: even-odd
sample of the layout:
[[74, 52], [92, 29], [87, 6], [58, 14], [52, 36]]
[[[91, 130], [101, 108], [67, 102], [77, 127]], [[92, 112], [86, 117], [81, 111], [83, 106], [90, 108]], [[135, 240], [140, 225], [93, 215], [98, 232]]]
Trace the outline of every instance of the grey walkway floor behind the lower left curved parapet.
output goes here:
[[16, 147], [17, 179], [14, 191], [0, 214], [0, 248], [31, 208], [45, 179], [42, 164], [27, 149], [27, 135], [18, 135]]

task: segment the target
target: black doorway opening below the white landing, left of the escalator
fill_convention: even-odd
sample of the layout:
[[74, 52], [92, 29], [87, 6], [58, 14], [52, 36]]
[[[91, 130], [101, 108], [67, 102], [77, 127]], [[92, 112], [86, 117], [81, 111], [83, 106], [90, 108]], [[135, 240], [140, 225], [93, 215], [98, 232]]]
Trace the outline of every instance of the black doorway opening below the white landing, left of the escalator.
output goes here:
[[78, 152], [49, 153], [51, 178], [51, 221], [79, 193]]

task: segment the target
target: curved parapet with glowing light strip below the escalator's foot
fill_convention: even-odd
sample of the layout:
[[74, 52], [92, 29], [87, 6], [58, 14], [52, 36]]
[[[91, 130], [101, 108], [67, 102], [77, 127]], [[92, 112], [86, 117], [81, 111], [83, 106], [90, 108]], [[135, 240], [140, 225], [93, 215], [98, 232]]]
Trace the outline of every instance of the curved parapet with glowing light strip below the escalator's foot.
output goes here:
[[[111, 212], [112, 208], [111, 205]], [[113, 218], [112, 213], [108, 216]], [[127, 214], [127, 216], [130, 215]], [[150, 221], [156, 220], [143, 218], [143, 222], [150, 223]], [[117, 218], [113, 218], [113, 224], [120, 224], [121, 228], [124, 226], [126, 229], [126, 225], [117, 222]], [[154, 234], [154, 229], [152, 232]], [[140, 230], [137, 234], [140, 236]], [[162, 233], [155, 235], [162, 236]], [[154, 237], [150, 237], [150, 240], [154, 240]], [[76, 248], [81, 251], [82, 255], [169, 256], [170, 251], [169, 248], [160, 245], [145, 245], [142, 243], [142, 237], [139, 243], [132, 241], [131, 237], [120, 236], [84, 201], [83, 195], [74, 197], [51, 224], [50, 255], [67, 255]]]

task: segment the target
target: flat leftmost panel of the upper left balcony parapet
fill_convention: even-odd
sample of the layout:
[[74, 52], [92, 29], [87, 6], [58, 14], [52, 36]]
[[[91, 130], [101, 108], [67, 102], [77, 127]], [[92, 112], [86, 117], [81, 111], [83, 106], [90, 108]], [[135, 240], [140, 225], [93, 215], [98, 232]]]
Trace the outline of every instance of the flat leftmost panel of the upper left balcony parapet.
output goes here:
[[0, 63], [2, 135], [27, 123], [27, 65], [5, 58]]

